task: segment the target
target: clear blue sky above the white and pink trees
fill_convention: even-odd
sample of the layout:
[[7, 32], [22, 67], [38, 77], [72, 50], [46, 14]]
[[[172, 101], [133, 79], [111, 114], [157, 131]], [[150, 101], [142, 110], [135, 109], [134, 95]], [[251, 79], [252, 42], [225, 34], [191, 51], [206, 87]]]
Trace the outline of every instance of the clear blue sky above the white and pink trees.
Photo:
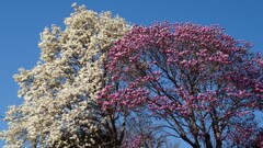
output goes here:
[[[39, 33], [45, 26], [64, 26], [73, 2], [101, 12], [112, 11], [136, 24], [155, 21], [220, 24], [236, 39], [253, 42], [263, 54], [262, 0], [2, 0], [0, 3], [0, 115], [8, 105], [19, 104], [18, 84], [12, 76], [20, 67], [30, 69], [39, 57]], [[0, 129], [7, 124], [0, 121]], [[1, 147], [0, 143], [0, 147]], [[186, 147], [185, 145], [181, 145]]]

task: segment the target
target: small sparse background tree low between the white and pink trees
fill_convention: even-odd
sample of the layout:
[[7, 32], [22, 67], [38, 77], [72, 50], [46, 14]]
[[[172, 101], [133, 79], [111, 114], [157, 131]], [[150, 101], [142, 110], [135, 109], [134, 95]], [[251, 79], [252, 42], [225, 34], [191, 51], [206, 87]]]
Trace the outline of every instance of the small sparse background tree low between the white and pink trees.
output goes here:
[[170, 141], [169, 135], [163, 133], [162, 123], [151, 113], [141, 109], [133, 112], [127, 122], [127, 129], [123, 147], [128, 148], [176, 148], [179, 143]]

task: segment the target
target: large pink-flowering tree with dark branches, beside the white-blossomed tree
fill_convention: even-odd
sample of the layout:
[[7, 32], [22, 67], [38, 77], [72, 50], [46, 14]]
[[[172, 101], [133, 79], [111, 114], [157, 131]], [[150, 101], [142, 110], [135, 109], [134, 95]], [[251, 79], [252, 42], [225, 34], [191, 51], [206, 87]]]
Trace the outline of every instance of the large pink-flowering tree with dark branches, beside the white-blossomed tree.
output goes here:
[[110, 50], [112, 82], [98, 102], [123, 113], [147, 107], [194, 148], [247, 145], [263, 107], [263, 59], [250, 48], [217, 25], [134, 26]]

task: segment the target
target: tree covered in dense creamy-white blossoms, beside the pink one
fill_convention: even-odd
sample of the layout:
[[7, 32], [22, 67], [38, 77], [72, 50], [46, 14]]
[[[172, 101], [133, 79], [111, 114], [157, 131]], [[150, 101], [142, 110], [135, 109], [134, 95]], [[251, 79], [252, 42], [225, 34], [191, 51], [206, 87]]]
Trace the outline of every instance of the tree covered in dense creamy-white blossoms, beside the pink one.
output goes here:
[[65, 30], [53, 25], [41, 34], [37, 65], [14, 76], [24, 102], [7, 112], [9, 129], [0, 134], [7, 148], [84, 147], [95, 143], [92, 137], [105, 119], [94, 103], [105, 81], [103, 62], [110, 47], [129, 26], [110, 12], [72, 7], [76, 11], [65, 20]]

